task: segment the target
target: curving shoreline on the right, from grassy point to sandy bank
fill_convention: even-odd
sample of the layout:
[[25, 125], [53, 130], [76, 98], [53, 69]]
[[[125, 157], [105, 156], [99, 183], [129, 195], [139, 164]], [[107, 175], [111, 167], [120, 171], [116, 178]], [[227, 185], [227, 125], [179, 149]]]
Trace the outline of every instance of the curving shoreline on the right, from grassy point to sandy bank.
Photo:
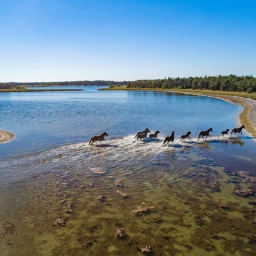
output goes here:
[[[115, 91], [115, 88], [109, 89], [100, 89], [104, 91]], [[249, 97], [241, 97], [241, 96], [234, 96], [234, 95], [226, 95], [226, 94], [210, 94], [204, 92], [191, 92], [191, 91], [181, 91], [181, 89], [150, 89], [150, 88], [117, 88], [117, 91], [154, 91], [154, 92], [163, 92], [163, 93], [180, 93], [180, 94], [188, 94], [188, 95], [195, 95], [195, 96], [206, 96], [206, 97], [213, 97], [215, 99], [221, 99], [222, 101], [229, 102], [235, 105], [241, 105], [244, 107], [242, 112], [239, 114], [239, 122], [241, 125], [246, 126], [246, 131], [250, 133], [253, 137], [256, 138], [256, 100], [250, 99]]]

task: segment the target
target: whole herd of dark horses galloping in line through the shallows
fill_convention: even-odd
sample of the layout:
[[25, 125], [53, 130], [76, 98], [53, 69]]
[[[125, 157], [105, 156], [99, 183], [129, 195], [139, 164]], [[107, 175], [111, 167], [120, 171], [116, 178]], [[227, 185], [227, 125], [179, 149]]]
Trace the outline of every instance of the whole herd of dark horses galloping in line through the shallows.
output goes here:
[[[231, 131], [231, 134], [230, 135], [232, 135], [233, 133], [236, 135], [236, 136], [238, 136], [239, 135], [239, 133], [241, 133], [241, 135], [242, 135], [242, 128], [246, 128], [244, 125], [242, 125], [241, 127], [239, 127], [239, 128], [234, 128], [232, 131]], [[210, 136], [210, 131], [213, 131], [212, 130], [212, 128], [210, 128], [210, 129], [208, 129], [207, 131], [200, 131], [200, 133], [199, 133], [199, 136], [198, 136], [198, 139], [200, 139], [200, 138], [202, 138], [202, 139], [204, 139], [204, 137], [205, 137], [205, 139], [207, 139], [207, 137], [209, 136], [210, 138], [211, 138], [211, 136]], [[223, 137], [223, 135], [228, 135], [228, 132], [229, 132], [229, 130], [227, 129], [226, 131], [222, 131], [221, 132], [221, 137]], [[151, 133], [151, 131], [149, 131], [149, 129], [148, 128], [146, 128], [144, 131], [139, 131], [137, 134], [136, 134], [136, 136], [134, 137], [134, 138], [136, 138], [136, 140], [138, 140], [138, 139], [144, 139], [144, 138], [147, 138], [147, 134], [148, 133]], [[157, 135], [160, 133], [160, 131], [159, 130], [157, 130], [155, 133], [151, 133], [151, 134], [149, 134], [149, 138], [157, 138]], [[188, 131], [188, 133], [186, 133], [186, 134], [184, 134], [184, 135], [182, 135], [182, 136], [180, 136], [180, 141], [182, 141], [183, 139], [190, 139], [190, 136], [189, 135], [191, 135], [191, 132], [190, 131]], [[97, 141], [99, 141], [99, 142], [101, 142], [101, 141], [105, 141], [105, 136], [109, 136], [109, 134], [107, 134], [106, 132], [105, 133], [102, 133], [101, 135], [99, 135], [99, 136], [94, 136], [93, 138], [91, 138], [91, 140], [89, 141], [89, 145], [92, 145], [93, 144], [93, 142], [96, 142], [96, 144], [97, 144]], [[167, 136], [167, 137], [165, 137], [165, 141], [163, 142], [163, 144], [165, 144], [165, 143], [169, 143], [169, 142], [173, 142], [174, 141], [174, 131], [172, 131], [171, 132], [171, 135], [170, 136]]]

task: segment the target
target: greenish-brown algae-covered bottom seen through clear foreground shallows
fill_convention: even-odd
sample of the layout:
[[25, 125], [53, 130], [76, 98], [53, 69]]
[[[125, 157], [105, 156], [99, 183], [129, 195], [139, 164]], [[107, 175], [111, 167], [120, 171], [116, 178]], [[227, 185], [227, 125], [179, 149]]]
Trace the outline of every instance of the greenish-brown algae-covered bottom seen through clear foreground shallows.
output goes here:
[[[188, 157], [193, 166], [181, 157], [175, 168], [138, 169], [135, 184], [122, 169], [95, 175], [70, 168], [15, 183], [10, 192], [20, 202], [17, 235], [7, 233], [3, 241], [12, 239], [12, 253], [22, 239], [31, 241], [21, 256], [142, 255], [138, 248], [144, 246], [155, 256], [255, 251], [255, 207], [233, 192], [253, 184], [239, 177], [234, 184], [225, 167], [200, 155]], [[154, 208], [134, 212], [139, 205]], [[117, 237], [117, 228], [126, 235]]]

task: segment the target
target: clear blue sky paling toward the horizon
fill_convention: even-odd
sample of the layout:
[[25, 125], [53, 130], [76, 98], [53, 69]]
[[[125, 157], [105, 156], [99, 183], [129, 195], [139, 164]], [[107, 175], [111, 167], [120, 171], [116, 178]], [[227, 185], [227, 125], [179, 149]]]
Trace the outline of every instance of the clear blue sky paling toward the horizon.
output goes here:
[[256, 1], [0, 0], [0, 81], [256, 76]]

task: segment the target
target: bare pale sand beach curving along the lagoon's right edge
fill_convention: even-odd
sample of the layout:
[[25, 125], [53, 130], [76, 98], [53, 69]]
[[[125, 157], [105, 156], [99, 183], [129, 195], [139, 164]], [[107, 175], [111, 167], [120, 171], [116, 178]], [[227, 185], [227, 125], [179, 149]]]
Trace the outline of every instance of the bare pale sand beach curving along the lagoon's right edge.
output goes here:
[[[170, 91], [166, 91], [166, 92], [170, 93]], [[248, 131], [248, 133], [250, 133], [253, 137], [256, 138], [256, 101], [254, 99], [238, 97], [238, 96], [220, 95], [220, 94], [212, 95], [212, 94], [206, 94], [206, 93], [188, 93], [188, 92], [180, 92], [180, 91], [179, 92], [171, 91], [171, 92], [213, 97], [217, 99], [222, 99], [223, 101], [227, 101], [232, 104], [241, 105], [242, 107], [244, 107], [244, 109], [239, 115], [239, 121], [242, 125], [246, 126], [246, 131]]]

